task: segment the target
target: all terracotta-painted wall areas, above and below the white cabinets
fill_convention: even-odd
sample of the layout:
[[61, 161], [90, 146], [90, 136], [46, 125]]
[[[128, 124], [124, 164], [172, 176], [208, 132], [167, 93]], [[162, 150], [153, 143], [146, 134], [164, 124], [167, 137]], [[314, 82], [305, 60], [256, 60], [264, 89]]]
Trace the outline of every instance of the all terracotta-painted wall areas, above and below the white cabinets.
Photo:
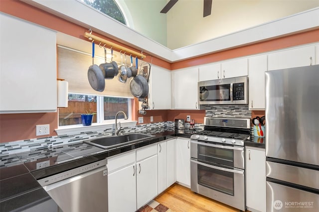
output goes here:
[[[19, 0], [1, 0], [0, 11], [11, 14], [13, 16], [37, 23], [39, 25], [54, 29], [56, 31], [69, 34], [71, 36], [87, 40], [84, 37], [84, 32], [87, 28], [71, 23], [63, 18], [57, 17], [38, 8], [30, 6]], [[96, 33], [95, 35], [104, 39], [118, 43], [122, 46], [137, 51], [125, 44], [119, 43], [111, 38], [105, 37]], [[256, 44], [250, 44], [243, 47], [238, 47], [231, 50], [226, 50], [218, 53], [212, 53], [205, 56], [184, 60], [169, 64], [158, 58], [153, 58], [153, 64], [163, 67], [168, 70], [176, 70], [189, 66], [196, 66], [230, 58], [257, 54], [261, 52], [272, 51], [281, 48], [287, 48], [295, 45], [302, 45], [319, 41], [319, 29], [302, 32], [294, 35], [288, 35], [281, 38], [272, 39]], [[147, 53], [146, 53], [147, 54]], [[145, 59], [151, 62], [151, 57]], [[136, 100], [133, 103], [133, 119], [139, 117], [138, 109], [135, 108]], [[150, 123], [150, 116], [154, 117], [154, 122], [174, 121], [175, 118], [186, 119], [186, 115], [190, 115], [191, 119], [195, 119], [196, 123], [203, 123], [205, 112], [202, 110], [158, 110], [147, 111], [144, 116], [144, 123]], [[0, 142], [18, 141], [24, 139], [33, 139], [35, 136], [35, 125], [50, 124], [50, 135], [56, 135], [54, 129], [58, 126], [57, 113], [35, 113], [35, 114], [1, 114], [0, 115]]]

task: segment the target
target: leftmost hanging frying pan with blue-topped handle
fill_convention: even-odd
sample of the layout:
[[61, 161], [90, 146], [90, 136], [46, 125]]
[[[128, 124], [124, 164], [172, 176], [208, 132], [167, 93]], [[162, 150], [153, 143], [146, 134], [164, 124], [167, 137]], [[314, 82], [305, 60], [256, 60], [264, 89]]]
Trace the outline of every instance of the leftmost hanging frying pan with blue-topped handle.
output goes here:
[[98, 65], [94, 64], [94, 47], [95, 44], [92, 42], [92, 66], [88, 70], [88, 79], [94, 90], [102, 92], [105, 89], [105, 73], [103, 73]]

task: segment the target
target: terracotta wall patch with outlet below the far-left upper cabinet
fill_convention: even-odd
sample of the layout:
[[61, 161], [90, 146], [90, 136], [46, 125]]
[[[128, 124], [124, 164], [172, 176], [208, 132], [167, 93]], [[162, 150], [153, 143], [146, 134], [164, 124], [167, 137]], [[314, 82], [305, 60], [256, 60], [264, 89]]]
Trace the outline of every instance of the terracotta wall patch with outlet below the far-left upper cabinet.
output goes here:
[[0, 143], [40, 138], [35, 136], [35, 125], [50, 125], [50, 135], [56, 136], [57, 113], [0, 114]]

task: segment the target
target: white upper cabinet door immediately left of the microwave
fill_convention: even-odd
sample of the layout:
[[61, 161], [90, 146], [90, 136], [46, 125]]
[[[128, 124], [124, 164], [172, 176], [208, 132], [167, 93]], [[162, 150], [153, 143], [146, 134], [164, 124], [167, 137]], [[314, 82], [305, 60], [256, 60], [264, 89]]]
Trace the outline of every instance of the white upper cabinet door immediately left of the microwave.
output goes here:
[[174, 109], [199, 109], [198, 68], [173, 71]]

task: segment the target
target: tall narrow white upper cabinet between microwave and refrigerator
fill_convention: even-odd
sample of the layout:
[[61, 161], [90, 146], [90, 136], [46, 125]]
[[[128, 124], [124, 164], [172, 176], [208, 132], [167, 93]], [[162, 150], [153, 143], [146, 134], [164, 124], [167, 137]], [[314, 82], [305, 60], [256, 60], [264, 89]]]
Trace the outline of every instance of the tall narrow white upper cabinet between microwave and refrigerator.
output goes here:
[[248, 59], [249, 109], [265, 110], [265, 71], [267, 71], [267, 55], [259, 55]]

